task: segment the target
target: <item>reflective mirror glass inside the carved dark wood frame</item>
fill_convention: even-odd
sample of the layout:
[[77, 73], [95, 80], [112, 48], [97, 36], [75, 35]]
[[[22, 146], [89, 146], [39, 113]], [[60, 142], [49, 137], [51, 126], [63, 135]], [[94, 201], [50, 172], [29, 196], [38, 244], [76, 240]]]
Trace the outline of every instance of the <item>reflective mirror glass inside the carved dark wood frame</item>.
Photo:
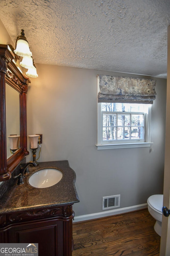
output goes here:
[[[9, 135], [20, 135], [19, 92], [6, 83], [6, 149], [7, 159], [15, 153]], [[16, 148], [19, 148], [19, 138]]]

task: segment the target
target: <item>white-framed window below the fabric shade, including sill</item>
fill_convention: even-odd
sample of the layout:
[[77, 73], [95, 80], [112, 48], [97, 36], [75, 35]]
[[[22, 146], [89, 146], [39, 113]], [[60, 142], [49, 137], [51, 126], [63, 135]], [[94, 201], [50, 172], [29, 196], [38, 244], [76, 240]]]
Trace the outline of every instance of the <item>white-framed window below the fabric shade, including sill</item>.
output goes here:
[[151, 104], [97, 104], [97, 149], [150, 147]]

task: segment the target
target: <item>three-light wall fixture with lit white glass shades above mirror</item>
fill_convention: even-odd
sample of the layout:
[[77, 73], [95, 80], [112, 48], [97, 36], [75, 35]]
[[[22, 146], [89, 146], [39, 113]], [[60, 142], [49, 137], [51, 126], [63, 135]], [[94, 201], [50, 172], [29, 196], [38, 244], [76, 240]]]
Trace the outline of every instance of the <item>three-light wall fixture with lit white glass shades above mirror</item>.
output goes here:
[[21, 35], [18, 35], [18, 37], [16, 38], [14, 53], [20, 57], [23, 57], [20, 65], [28, 69], [26, 75], [28, 75], [29, 77], [38, 77], [36, 66], [31, 57], [32, 53], [29, 50], [28, 41], [25, 37], [23, 29], [21, 30]]

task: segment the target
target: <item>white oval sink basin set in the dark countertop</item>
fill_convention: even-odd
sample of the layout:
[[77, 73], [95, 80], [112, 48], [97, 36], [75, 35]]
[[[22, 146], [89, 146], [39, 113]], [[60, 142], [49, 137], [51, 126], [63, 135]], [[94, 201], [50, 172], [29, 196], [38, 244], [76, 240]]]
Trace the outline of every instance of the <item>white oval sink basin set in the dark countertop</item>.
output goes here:
[[62, 178], [62, 172], [56, 169], [44, 169], [37, 171], [29, 178], [29, 184], [33, 187], [44, 188], [57, 184]]

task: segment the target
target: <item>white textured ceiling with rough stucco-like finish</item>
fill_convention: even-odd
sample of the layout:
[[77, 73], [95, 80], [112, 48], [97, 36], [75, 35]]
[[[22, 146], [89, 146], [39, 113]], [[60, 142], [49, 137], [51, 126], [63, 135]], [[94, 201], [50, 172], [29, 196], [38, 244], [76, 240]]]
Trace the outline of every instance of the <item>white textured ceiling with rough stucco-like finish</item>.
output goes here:
[[166, 77], [170, 0], [0, 0], [35, 63]]

